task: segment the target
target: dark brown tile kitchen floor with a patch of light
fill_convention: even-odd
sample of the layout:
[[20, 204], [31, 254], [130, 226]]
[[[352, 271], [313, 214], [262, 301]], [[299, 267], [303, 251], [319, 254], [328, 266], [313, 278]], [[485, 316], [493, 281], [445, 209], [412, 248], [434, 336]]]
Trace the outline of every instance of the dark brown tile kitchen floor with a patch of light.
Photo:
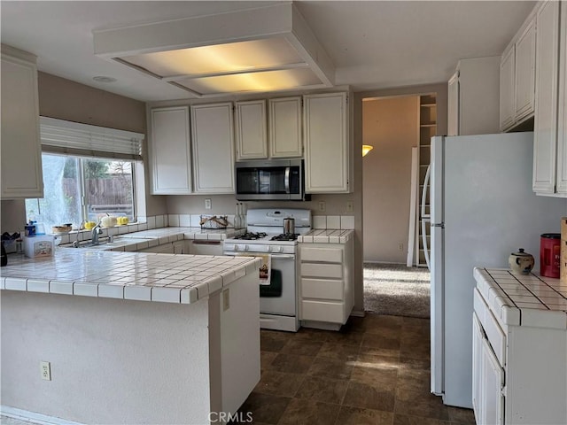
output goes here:
[[429, 320], [377, 314], [340, 332], [262, 329], [260, 383], [240, 411], [255, 424], [475, 423], [431, 395], [429, 340]]

